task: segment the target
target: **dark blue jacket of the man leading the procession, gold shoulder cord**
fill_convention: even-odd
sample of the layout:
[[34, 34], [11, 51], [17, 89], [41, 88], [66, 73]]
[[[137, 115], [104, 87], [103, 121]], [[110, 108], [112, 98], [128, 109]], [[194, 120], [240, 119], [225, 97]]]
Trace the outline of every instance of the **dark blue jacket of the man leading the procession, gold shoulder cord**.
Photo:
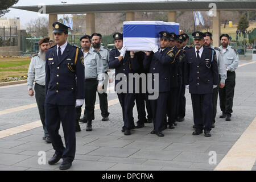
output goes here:
[[[75, 105], [76, 99], [84, 99], [84, 55], [76, 56], [75, 46], [67, 44], [59, 61], [57, 46], [46, 53], [46, 103], [53, 105]], [[69, 69], [68, 66], [72, 67]]]

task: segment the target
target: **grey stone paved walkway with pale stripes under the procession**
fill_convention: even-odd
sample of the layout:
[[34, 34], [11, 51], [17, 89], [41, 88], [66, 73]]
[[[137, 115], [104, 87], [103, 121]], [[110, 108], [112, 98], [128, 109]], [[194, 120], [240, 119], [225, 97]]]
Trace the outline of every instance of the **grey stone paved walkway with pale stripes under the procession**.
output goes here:
[[[110, 120], [102, 122], [97, 96], [93, 131], [85, 131], [86, 124], [81, 124], [69, 170], [256, 170], [255, 70], [254, 61], [240, 61], [232, 121], [218, 118], [221, 111], [217, 107], [216, 127], [209, 138], [192, 135], [192, 105], [187, 90], [185, 121], [173, 130], [164, 130], [162, 138], [150, 134], [152, 123], [133, 130], [130, 136], [123, 135], [121, 106], [114, 93], [108, 94]], [[28, 96], [26, 84], [0, 86], [0, 97], [0, 170], [59, 170], [61, 160], [53, 166], [47, 163], [54, 151], [52, 144], [42, 140], [35, 97]], [[134, 118], [136, 122], [136, 107]], [[60, 134], [63, 136], [62, 129]], [[39, 151], [46, 152], [46, 164], [39, 164]], [[227, 162], [234, 163], [227, 166]]]

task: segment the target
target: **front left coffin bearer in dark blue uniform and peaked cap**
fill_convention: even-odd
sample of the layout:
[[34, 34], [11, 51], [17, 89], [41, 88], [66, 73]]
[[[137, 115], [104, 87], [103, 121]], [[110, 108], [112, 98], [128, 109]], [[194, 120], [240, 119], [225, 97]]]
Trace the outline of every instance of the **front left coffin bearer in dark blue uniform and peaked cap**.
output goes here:
[[[126, 51], [127, 47], [123, 46], [123, 35], [116, 32], [113, 38], [116, 48], [110, 51], [109, 68], [115, 69], [115, 91], [117, 92], [118, 100], [122, 107], [124, 122], [122, 132], [124, 132], [125, 135], [130, 135], [130, 130], [135, 128], [133, 120], [135, 88], [133, 86], [133, 93], [129, 92], [129, 81], [134, 81], [129, 80], [129, 73], [137, 73], [139, 64], [137, 57], [134, 55], [134, 51]], [[118, 79], [117, 76], [122, 77]], [[123, 88], [124, 85], [126, 89]]]

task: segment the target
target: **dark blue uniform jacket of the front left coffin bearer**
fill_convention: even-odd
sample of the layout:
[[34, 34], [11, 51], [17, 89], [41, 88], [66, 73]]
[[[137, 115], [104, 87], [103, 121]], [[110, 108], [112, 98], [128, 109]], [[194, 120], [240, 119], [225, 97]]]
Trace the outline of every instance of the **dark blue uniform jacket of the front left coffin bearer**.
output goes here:
[[[113, 49], [109, 53], [109, 68], [115, 69], [115, 77], [118, 73], [122, 73], [123, 75], [126, 75], [126, 82], [127, 82], [127, 93], [129, 90], [129, 73], [137, 73], [139, 69], [139, 64], [137, 60], [137, 56], [134, 55], [134, 58], [130, 57], [130, 51], [126, 51], [125, 58], [121, 61], [118, 60], [118, 56], [120, 56], [120, 52], [118, 49]], [[121, 78], [122, 80], [122, 78]], [[115, 80], [115, 86], [118, 84], [121, 80]], [[135, 90], [133, 84], [133, 91]], [[122, 86], [121, 86], [122, 89]]]

